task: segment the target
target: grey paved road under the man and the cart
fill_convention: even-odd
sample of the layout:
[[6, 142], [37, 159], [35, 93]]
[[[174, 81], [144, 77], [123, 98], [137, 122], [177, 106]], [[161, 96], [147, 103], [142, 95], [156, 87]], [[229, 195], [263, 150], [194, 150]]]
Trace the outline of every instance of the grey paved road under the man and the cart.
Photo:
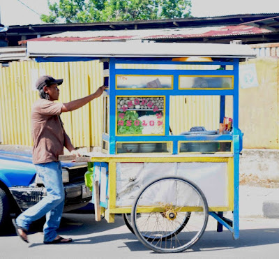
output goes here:
[[[225, 230], [216, 232], [216, 221], [209, 225], [202, 239], [184, 253], [172, 258], [278, 258], [279, 219], [241, 218], [240, 238], [232, 239]], [[38, 230], [38, 228], [37, 228]], [[0, 258], [169, 258], [146, 249], [123, 224], [121, 216], [115, 223], [96, 222], [91, 214], [63, 214], [59, 234], [73, 237], [72, 244], [43, 244], [42, 232], [32, 232], [30, 243], [8, 234], [0, 237]]]

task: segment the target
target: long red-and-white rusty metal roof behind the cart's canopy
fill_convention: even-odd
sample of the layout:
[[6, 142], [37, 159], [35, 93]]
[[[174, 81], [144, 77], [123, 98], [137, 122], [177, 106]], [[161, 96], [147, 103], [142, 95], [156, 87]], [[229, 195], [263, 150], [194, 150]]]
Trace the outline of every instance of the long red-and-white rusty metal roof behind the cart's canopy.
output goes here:
[[[176, 29], [143, 29], [118, 31], [66, 31], [61, 34], [52, 34], [42, 38], [27, 41], [126, 41], [126, 40], [158, 40], [158, 39], [187, 39], [212, 38], [224, 36], [243, 36], [270, 34], [269, 29], [257, 28], [248, 25], [230, 25], [218, 27], [195, 27]], [[21, 43], [25, 43], [22, 41]]]

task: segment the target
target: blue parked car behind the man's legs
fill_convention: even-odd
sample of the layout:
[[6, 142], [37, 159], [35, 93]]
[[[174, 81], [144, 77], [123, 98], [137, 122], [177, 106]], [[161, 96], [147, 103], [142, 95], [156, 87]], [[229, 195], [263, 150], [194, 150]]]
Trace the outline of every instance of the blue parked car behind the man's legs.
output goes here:
[[[65, 205], [63, 212], [89, 204], [92, 192], [86, 187], [87, 163], [61, 161]], [[0, 230], [46, 195], [45, 186], [32, 163], [31, 147], [0, 145]]]

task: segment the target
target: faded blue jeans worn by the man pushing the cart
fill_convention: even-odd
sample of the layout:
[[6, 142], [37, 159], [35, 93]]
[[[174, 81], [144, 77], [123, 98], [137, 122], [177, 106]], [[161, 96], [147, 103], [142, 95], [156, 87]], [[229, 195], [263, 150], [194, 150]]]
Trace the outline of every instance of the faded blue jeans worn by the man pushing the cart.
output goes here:
[[64, 207], [65, 193], [62, 182], [60, 162], [41, 163], [35, 165], [36, 171], [47, 190], [47, 196], [36, 205], [30, 207], [17, 217], [18, 226], [29, 229], [29, 225], [46, 215], [43, 227], [44, 241], [50, 242], [56, 237]]

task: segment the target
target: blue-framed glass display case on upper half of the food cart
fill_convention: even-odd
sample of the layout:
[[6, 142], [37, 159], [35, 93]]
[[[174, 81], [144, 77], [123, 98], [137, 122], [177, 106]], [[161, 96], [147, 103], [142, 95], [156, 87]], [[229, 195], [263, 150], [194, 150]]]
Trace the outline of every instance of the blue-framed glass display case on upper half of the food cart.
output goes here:
[[[105, 153], [232, 153], [232, 136], [238, 128], [234, 116], [237, 110], [232, 107], [237, 103], [236, 99], [232, 100], [228, 108], [225, 99], [238, 93], [234, 87], [238, 82], [236, 60], [195, 64], [172, 59], [160, 63], [136, 58], [112, 59], [110, 64], [104, 64], [105, 80], [110, 84], [104, 96], [102, 148]], [[183, 133], [187, 129], [186, 122], [181, 120], [185, 106], [177, 110], [183, 105], [179, 96], [185, 98], [185, 103], [188, 101], [188, 120], [192, 120], [188, 122], [188, 130], [190, 126], [207, 125], [210, 131]], [[204, 102], [209, 103], [195, 101], [200, 96], [207, 96]], [[224, 121], [227, 110], [234, 120]], [[176, 124], [183, 124], [180, 132]]]

